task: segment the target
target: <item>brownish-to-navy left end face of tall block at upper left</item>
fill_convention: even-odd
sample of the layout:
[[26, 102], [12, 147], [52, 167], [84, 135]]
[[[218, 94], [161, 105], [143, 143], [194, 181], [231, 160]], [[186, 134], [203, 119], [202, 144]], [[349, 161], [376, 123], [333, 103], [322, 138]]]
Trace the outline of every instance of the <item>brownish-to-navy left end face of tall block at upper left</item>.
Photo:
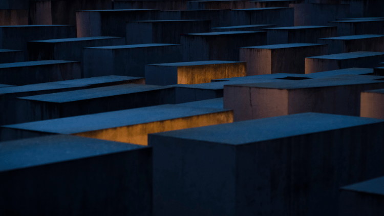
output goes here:
[[96, 11], [76, 12], [77, 37], [101, 36], [101, 16]]

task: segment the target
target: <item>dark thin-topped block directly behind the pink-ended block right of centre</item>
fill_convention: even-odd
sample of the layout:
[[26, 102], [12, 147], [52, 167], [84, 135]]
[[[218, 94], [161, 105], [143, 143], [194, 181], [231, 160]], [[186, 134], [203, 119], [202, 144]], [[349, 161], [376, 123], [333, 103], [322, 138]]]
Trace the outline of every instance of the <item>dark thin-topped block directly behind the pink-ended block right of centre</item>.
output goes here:
[[309, 43], [316, 44], [318, 38], [337, 36], [337, 28], [331, 26], [296, 26], [266, 28], [268, 45]]

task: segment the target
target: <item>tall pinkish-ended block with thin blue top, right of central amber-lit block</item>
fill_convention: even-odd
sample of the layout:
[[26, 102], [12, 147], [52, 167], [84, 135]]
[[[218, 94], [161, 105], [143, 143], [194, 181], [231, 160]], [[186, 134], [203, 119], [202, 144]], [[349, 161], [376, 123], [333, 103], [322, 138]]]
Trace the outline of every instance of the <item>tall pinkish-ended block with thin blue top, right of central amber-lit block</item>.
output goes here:
[[306, 57], [327, 54], [324, 44], [279, 44], [240, 48], [240, 61], [247, 62], [247, 76], [304, 74]]

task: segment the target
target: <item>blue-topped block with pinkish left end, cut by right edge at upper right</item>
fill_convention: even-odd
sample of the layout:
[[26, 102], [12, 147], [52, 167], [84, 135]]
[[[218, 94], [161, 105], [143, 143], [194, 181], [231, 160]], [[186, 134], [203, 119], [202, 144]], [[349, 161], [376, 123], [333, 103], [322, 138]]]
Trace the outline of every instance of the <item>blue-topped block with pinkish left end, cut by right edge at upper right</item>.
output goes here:
[[382, 52], [350, 52], [305, 58], [305, 73], [346, 68], [375, 68], [384, 60]]

